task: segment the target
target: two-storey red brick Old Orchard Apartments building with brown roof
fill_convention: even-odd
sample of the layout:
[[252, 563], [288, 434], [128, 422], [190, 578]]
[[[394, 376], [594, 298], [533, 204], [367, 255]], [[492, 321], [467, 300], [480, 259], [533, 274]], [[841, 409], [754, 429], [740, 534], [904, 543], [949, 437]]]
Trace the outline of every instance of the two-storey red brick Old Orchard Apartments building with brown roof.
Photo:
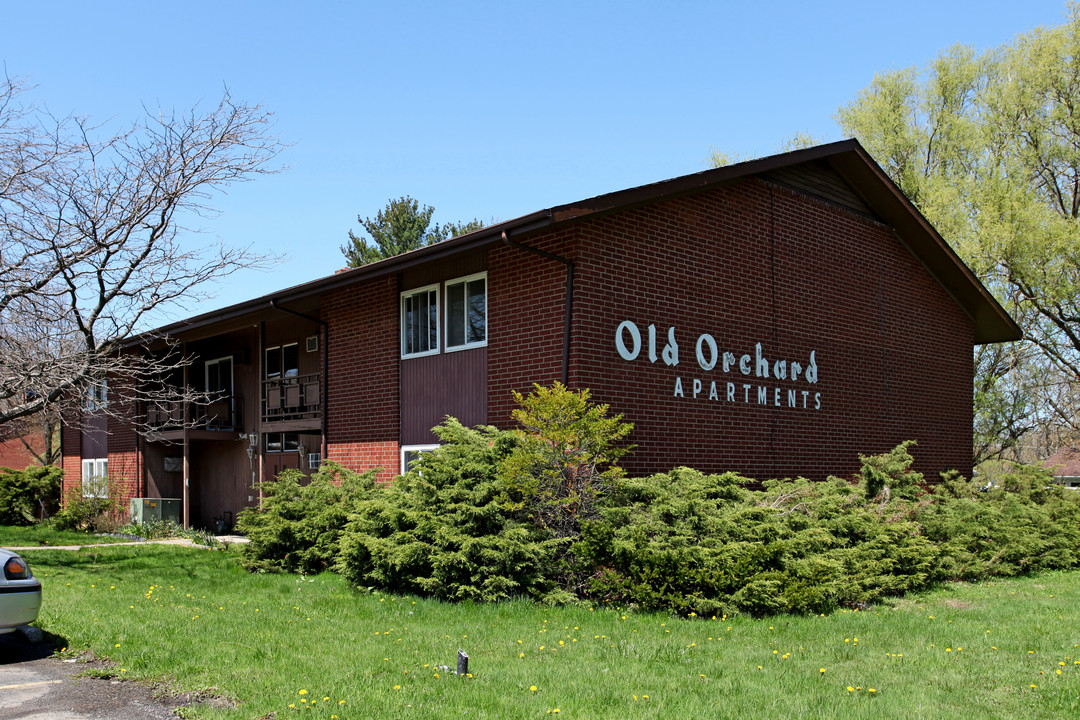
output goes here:
[[[158, 335], [194, 358], [171, 381], [224, 399], [150, 413], [150, 437], [68, 426], [66, 483], [107, 462], [199, 526], [282, 467], [390, 478], [445, 416], [511, 426], [511, 391], [556, 380], [634, 423], [635, 475], [818, 479], [905, 439], [929, 477], [970, 474], [972, 347], [1021, 336], [854, 140], [541, 210]], [[203, 420], [179, 429], [185, 412]]]

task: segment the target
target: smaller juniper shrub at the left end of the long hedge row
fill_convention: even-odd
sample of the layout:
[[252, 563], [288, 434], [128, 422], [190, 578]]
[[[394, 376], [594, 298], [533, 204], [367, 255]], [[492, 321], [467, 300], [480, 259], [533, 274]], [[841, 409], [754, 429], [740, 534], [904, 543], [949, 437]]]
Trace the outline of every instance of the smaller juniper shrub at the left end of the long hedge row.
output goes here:
[[237, 517], [247, 535], [241, 565], [260, 572], [321, 572], [332, 567], [348, 515], [376, 492], [375, 473], [354, 473], [324, 462], [310, 481], [287, 468], [262, 483], [260, 506]]

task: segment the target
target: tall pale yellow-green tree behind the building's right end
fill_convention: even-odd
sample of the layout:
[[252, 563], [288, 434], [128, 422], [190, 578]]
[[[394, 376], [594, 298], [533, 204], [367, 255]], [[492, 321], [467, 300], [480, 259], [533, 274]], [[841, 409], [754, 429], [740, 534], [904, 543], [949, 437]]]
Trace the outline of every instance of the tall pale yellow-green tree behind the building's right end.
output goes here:
[[878, 74], [840, 108], [882, 168], [1024, 328], [976, 350], [976, 462], [1080, 431], [1080, 5], [983, 54]]

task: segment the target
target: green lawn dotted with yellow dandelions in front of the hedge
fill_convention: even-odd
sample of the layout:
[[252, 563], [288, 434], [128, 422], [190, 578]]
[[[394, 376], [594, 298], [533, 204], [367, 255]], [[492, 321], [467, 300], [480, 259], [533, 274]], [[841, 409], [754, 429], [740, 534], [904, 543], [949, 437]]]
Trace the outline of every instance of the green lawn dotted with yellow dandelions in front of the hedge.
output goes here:
[[[38, 624], [68, 653], [238, 704], [186, 717], [1080, 716], [1080, 572], [826, 616], [677, 620], [367, 595], [330, 573], [251, 575], [235, 553], [25, 555], [44, 585]], [[437, 667], [459, 648], [472, 677]]]

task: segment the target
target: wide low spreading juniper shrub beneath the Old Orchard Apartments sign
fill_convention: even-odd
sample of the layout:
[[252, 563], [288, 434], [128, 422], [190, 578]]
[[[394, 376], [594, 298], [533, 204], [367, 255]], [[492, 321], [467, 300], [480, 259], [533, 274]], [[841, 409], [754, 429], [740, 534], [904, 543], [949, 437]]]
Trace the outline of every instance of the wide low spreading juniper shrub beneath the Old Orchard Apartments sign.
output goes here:
[[603, 568], [590, 595], [649, 610], [823, 612], [924, 582], [930, 543], [851, 484], [772, 480], [681, 467], [627, 481], [579, 556]]

